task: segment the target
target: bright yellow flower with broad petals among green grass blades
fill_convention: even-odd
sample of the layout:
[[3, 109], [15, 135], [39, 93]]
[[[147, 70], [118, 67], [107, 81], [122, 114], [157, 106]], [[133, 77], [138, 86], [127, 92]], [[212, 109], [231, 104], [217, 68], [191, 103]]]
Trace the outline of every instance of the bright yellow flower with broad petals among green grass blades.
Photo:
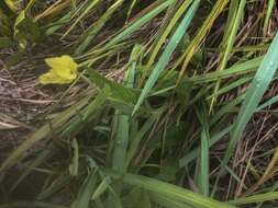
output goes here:
[[78, 65], [70, 56], [46, 58], [45, 62], [51, 70], [40, 77], [42, 84], [67, 84], [77, 78]]

